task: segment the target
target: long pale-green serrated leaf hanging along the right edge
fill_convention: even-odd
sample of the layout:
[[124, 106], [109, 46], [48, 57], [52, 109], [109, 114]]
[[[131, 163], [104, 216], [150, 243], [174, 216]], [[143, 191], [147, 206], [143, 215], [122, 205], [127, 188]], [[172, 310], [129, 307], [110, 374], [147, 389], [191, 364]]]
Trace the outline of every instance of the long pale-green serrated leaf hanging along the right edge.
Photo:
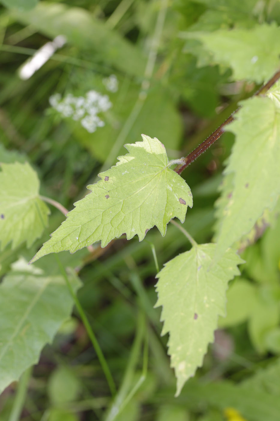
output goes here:
[[[266, 97], [242, 101], [235, 121], [225, 130], [235, 134], [225, 176], [232, 191], [222, 212], [217, 256], [240, 240], [280, 195], [280, 83]], [[226, 198], [225, 198], [226, 200]], [[222, 200], [222, 205], [225, 200]]]

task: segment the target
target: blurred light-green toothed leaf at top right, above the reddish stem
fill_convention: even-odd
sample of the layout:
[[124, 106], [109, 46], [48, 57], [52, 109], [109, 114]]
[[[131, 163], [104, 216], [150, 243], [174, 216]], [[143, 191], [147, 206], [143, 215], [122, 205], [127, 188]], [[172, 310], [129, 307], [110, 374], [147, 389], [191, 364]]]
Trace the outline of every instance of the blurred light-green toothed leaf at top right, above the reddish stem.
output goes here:
[[231, 67], [235, 80], [262, 83], [279, 68], [280, 28], [272, 23], [251, 29], [218, 29], [214, 32], [185, 32], [212, 55], [212, 62]]

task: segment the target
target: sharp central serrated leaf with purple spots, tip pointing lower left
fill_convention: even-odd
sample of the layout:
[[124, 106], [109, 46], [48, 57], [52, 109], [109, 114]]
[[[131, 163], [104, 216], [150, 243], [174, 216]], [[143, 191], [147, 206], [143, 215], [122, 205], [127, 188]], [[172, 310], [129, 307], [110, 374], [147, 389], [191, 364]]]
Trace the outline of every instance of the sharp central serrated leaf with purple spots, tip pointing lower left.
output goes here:
[[142, 135], [143, 141], [127, 144], [127, 155], [99, 174], [100, 181], [87, 186], [92, 192], [67, 214], [67, 219], [32, 261], [49, 253], [71, 253], [101, 240], [105, 247], [113, 238], [138, 235], [142, 241], [154, 225], [164, 236], [166, 224], [175, 216], [185, 220], [193, 198], [188, 184], [170, 170], [164, 145]]

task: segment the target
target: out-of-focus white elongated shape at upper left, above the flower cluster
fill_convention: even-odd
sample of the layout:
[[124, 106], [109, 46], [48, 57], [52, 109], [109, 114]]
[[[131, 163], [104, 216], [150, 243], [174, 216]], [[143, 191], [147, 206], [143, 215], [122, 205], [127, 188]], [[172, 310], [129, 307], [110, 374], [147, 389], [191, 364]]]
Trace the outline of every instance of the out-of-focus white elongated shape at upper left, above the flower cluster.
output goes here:
[[18, 74], [22, 80], [27, 80], [29, 77], [34, 75], [37, 70], [45, 64], [51, 56], [55, 53], [58, 48], [63, 47], [66, 43], [66, 37], [64, 35], [58, 35], [52, 42], [48, 42], [39, 48], [34, 56], [28, 59], [23, 66], [20, 67]]

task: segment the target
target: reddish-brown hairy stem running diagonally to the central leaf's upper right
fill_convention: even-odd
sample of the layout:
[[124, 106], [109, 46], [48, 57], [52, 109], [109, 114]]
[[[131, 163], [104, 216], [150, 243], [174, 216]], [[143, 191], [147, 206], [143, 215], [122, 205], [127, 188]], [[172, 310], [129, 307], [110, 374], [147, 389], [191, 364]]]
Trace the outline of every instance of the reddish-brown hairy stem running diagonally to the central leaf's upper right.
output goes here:
[[[280, 78], [280, 70], [278, 70], [278, 72], [276, 72], [275, 75], [273, 75], [271, 79], [269, 79], [269, 81], [261, 89], [259, 89], [259, 91], [257, 91], [254, 95], [255, 96], [264, 95], [277, 82], [279, 78]], [[182, 160], [185, 161], [185, 163], [181, 166], [177, 165], [174, 171], [178, 174], [181, 174], [182, 171], [184, 171], [185, 168], [188, 167], [188, 165], [190, 165], [194, 160], [196, 160], [197, 157], [203, 154], [203, 152], [205, 152], [206, 149], [209, 148], [209, 146], [211, 146], [216, 140], [218, 140], [219, 137], [222, 136], [222, 134], [224, 133], [224, 130], [223, 130], [224, 126], [231, 123], [234, 120], [234, 115], [239, 109], [240, 107], [238, 107], [238, 109], [236, 109], [232, 113], [232, 115], [230, 115], [230, 117], [228, 117], [227, 120], [225, 120], [224, 123], [222, 123], [214, 131], [214, 133], [212, 133], [210, 136], [208, 136], [208, 138], [204, 142], [198, 145], [198, 147], [195, 148], [193, 152], [190, 152], [188, 156], [186, 156], [185, 158], [182, 158]]]

